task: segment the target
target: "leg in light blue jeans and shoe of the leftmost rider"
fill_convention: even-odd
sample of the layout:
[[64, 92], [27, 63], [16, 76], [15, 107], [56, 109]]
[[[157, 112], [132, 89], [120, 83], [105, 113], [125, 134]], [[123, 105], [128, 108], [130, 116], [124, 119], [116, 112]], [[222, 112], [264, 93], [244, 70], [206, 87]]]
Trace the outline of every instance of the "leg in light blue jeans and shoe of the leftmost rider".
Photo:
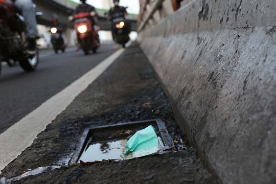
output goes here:
[[36, 39], [39, 38], [37, 31], [37, 22], [35, 17], [34, 4], [32, 0], [13, 0], [16, 9], [25, 19], [27, 38], [28, 38], [28, 48], [27, 53], [30, 55], [35, 55], [36, 49]]

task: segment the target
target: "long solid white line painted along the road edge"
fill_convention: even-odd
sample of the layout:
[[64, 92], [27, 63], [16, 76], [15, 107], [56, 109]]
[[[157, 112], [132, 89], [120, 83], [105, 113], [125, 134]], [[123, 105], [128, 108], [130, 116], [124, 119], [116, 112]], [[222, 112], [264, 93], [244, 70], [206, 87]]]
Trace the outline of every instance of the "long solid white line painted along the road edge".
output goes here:
[[[130, 43], [129, 43], [130, 44]], [[128, 45], [129, 45], [128, 44]], [[125, 49], [119, 49], [81, 78], [41, 104], [37, 109], [0, 134], [0, 174], [22, 151], [31, 146], [37, 135], [45, 130], [88, 85], [93, 83]]]

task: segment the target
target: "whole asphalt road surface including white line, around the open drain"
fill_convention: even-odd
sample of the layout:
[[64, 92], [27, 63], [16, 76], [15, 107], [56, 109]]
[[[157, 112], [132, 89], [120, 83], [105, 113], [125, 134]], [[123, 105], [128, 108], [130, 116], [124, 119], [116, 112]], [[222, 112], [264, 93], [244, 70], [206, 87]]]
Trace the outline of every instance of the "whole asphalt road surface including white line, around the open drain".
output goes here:
[[[180, 146], [183, 139], [169, 100], [139, 45], [120, 48], [103, 45], [90, 56], [74, 49], [59, 55], [44, 51], [32, 73], [4, 66], [1, 181], [56, 166], [61, 168], [12, 183], [214, 183], [196, 151], [185, 143]], [[70, 164], [86, 128], [153, 119], [163, 120], [176, 141], [169, 153], [91, 166]], [[133, 133], [138, 129], [130, 128]]]

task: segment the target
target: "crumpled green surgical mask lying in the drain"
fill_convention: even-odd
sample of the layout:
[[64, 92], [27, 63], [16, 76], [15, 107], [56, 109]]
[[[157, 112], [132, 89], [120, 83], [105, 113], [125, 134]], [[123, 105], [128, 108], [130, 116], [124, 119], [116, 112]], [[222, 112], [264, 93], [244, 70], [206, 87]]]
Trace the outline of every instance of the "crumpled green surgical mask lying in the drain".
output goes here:
[[137, 131], [126, 143], [124, 159], [137, 158], [158, 152], [158, 138], [153, 126]]

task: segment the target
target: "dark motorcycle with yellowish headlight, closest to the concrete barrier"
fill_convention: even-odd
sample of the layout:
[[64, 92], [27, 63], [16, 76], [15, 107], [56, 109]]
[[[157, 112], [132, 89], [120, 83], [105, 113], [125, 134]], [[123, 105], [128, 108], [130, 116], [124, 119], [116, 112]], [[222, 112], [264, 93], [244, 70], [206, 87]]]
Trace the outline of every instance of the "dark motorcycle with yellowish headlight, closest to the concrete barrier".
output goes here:
[[113, 39], [117, 43], [122, 44], [123, 48], [125, 48], [126, 43], [130, 40], [128, 23], [125, 19], [125, 13], [124, 12], [113, 13], [111, 16], [112, 16]]

